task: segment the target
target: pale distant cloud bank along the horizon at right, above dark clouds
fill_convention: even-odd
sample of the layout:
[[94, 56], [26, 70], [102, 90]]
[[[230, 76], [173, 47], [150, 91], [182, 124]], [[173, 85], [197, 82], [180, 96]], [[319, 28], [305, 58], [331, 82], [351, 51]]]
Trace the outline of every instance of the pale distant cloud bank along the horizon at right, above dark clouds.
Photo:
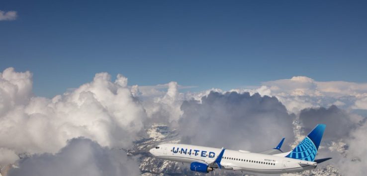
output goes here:
[[315, 81], [306, 76], [263, 82], [258, 88], [232, 89], [275, 96], [289, 112], [298, 114], [305, 108], [337, 105], [343, 109], [367, 110], [367, 83]]

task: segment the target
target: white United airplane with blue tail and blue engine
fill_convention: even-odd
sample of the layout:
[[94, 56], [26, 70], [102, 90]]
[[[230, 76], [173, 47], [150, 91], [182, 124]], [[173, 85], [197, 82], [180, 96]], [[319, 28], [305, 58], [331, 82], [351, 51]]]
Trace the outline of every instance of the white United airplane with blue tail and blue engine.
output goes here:
[[190, 170], [200, 173], [214, 169], [262, 174], [301, 172], [331, 159], [315, 160], [325, 127], [325, 124], [317, 124], [293, 150], [285, 153], [280, 150], [285, 138], [275, 148], [261, 153], [173, 143], [160, 144], [149, 152], [161, 159], [190, 163]]

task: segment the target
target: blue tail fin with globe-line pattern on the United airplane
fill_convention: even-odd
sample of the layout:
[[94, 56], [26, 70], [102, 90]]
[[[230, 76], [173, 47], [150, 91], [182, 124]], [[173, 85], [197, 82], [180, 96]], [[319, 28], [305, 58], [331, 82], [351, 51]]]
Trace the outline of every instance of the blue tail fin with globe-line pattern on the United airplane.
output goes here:
[[298, 160], [314, 161], [326, 125], [318, 124], [287, 156]]

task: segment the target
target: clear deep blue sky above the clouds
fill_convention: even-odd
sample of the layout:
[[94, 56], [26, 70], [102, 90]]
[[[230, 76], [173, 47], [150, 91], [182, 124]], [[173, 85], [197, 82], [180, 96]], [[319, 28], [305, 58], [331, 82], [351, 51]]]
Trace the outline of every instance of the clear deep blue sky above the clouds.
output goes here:
[[0, 70], [52, 97], [122, 73], [129, 85], [231, 89], [296, 75], [367, 82], [367, 2], [3, 0]]

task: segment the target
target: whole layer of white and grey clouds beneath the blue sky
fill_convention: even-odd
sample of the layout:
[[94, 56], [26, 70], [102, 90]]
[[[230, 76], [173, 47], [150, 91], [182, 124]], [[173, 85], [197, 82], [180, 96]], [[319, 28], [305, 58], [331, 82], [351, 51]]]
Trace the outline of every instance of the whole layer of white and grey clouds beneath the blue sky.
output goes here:
[[[52, 99], [34, 96], [32, 84], [29, 71], [0, 72], [0, 166], [19, 161], [13, 176], [62, 169], [66, 175], [136, 175], [136, 161], [115, 149], [131, 148], [152, 122], [177, 128], [182, 143], [254, 152], [274, 147], [282, 137], [282, 149], [290, 149], [294, 139], [325, 123], [318, 157], [333, 157], [329, 163], [342, 173], [367, 172], [366, 118], [351, 111], [366, 107], [364, 83], [298, 76], [253, 89], [181, 93], [184, 86], [174, 81], [130, 87], [123, 75], [113, 81], [102, 72]], [[19, 160], [19, 155], [27, 157]], [[74, 167], [80, 165], [88, 170]]]

